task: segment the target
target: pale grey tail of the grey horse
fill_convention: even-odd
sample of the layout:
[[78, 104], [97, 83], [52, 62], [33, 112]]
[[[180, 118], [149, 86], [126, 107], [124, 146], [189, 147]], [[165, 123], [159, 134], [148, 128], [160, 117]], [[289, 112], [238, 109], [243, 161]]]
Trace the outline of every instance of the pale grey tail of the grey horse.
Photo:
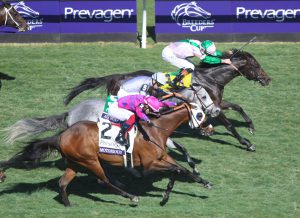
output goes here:
[[16, 140], [36, 136], [46, 131], [66, 128], [67, 124], [65, 120], [67, 116], [68, 112], [65, 112], [60, 115], [44, 118], [22, 119], [1, 131], [6, 132], [5, 142], [12, 144]]

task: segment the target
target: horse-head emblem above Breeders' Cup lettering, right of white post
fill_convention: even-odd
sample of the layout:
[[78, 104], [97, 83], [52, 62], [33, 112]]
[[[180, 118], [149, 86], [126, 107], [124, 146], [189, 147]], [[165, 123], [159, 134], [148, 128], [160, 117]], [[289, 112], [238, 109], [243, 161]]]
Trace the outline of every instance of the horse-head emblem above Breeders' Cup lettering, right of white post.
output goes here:
[[183, 3], [177, 5], [171, 12], [171, 16], [173, 20], [176, 21], [177, 24], [180, 23], [182, 17], [202, 17], [204, 19], [208, 19], [211, 16], [211, 13], [203, 10], [201, 7], [197, 5], [196, 2]]

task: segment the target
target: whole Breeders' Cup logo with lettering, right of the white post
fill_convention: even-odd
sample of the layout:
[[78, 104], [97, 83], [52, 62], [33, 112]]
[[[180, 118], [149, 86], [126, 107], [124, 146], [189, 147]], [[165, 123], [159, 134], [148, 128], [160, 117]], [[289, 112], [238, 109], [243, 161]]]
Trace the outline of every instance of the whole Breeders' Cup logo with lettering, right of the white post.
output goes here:
[[211, 13], [199, 7], [196, 2], [177, 5], [171, 12], [171, 16], [177, 25], [189, 28], [192, 32], [214, 27], [215, 23], [215, 19], [209, 19]]

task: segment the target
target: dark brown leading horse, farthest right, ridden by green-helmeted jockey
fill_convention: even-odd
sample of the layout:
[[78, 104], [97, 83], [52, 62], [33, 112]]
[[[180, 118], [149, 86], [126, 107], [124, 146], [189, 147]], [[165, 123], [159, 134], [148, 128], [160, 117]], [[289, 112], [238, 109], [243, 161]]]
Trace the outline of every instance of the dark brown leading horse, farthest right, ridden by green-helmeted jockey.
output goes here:
[[[236, 53], [236, 49], [232, 49], [229, 52], [224, 53], [224, 58], [230, 58], [233, 53]], [[225, 86], [235, 77], [243, 76], [248, 80], [258, 81], [262, 86], [266, 86], [271, 81], [271, 78], [262, 69], [257, 60], [248, 52], [239, 51], [231, 58], [233, 65], [216, 65], [214, 67], [207, 67], [205, 65], [196, 66], [195, 77], [198, 77], [202, 83], [201, 85], [209, 93], [210, 97], [214, 101], [216, 106], [221, 109], [233, 109], [239, 112], [245, 119], [250, 133], [254, 132], [254, 125], [250, 117], [244, 112], [243, 108], [237, 104], [230, 103], [223, 100], [223, 93]], [[153, 72], [141, 70], [139, 72], [128, 74], [115, 74], [98, 78], [88, 78], [82, 81], [79, 85], [75, 86], [65, 99], [65, 104], [68, 104], [74, 97], [81, 92], [88, 89], [96, 89], [104, 84], [107, 84], [108, 90], [111, 90], [112, 94], [116, 92], [112, 87], [118, 87], [123, 81], [138, 75], [150, 76]], [[218, 120], [230, 131], [233, 136], [245, 145], [249, 151], [255, 151], [256, 146], [252, 144], [248, 139], [239, 135], [233, 124], [228, 120], [223, 111], [217, 117]]]

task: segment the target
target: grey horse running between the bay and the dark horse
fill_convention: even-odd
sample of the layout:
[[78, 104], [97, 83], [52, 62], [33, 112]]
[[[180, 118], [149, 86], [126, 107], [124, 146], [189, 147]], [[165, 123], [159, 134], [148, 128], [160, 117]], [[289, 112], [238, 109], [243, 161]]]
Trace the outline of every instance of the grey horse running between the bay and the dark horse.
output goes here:
[[[111, 80], [111, 85], [108, 85], [110, 89], [108, 92], [116, 94], [120, 86], [118, 83], [113, 84], [114, 82], [114, 80]], [[186, 101], [196, 103], [206, 113], [211, 114], [211, 116], [216, 116], [220, 112], [219, 107], [216, 107], [213, 104], [213, 101], [207, 91], [198, 85], [198, 83], [200, 82], [199, 79], [195, 77], [193, 78], [192, 82], [192, 89], [183, 89], [179, 93], [184, 97]], [[172, 100], [181, 102], [181, 100], [178, 98], [174, 98]], [[96, 122], [103, 113], [104, 105], [105, 101], [103, 101], [102, 99], [89, 99], [80, 102], [79, 104], [71, 108], [68, 112], [64, 112], [59, 115], [21, 119], [12, 126], [2, 130], [7, 132], [5, 141], [11, 144], [16, 140], [36, 136], [46, 131], [65, 129], [68, 126], [71, 126], [74, 123], [82, 120], [90, 120]], [[209, 127], [205, 128], [207, 129]], [[204, 128], [201, 126], [200, 131], [202, 131], [203, 129]], [[169, 138], [167, 140], [167, 146], [169, 148], [175, 148], [179, 152], [183, 153], [188, 164], [193, 168], [193, 172], [196, 174], [198, 173], [196, 164], [187, 153], [187, 150], [183, 145], [176, 143]]]

